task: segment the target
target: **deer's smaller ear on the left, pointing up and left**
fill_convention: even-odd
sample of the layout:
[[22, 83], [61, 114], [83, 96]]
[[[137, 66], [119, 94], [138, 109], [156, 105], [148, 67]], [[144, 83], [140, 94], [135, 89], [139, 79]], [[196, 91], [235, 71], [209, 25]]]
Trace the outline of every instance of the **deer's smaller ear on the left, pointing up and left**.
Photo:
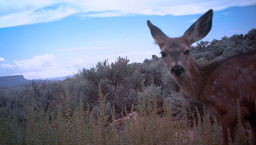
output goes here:
[[155, 39], [155, 43], [161, 46], [163, 45], [164, 41], [168, 39], [169, 37], [166, 36], [159, 28], [154, 26], [149, 20], [147, 20], [148, 27], [150, 29], [152, 37]]

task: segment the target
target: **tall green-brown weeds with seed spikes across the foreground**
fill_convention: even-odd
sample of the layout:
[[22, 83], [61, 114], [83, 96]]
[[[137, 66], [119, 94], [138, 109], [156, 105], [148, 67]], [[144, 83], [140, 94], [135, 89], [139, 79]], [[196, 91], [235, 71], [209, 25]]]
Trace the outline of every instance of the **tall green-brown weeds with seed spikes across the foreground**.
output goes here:
[[[154, 86], [154, 81], [152, 81]], [[168, 106], [165, 95], [163, 100], [163, 114], [158, 114], [157, 87], [150, 87], [150, 91], [142, 87], [142, 94], [138, 95], [137, 111], [132, 115], [123, 116], [123, 125], [117, 129], [115, 122], [115, 107], [112, 106], [112, 123], [108, 120], [109, 104], [107, 95], [102, 93], [101, 81], [98, 87], [98, 111], [95, 107], [84, 111], [82, 94], [74, 111], [70, 111], [69, 87], [59, 106], [56, 116], [50, 118], [49, 111], [45, 113], [43, 107], [32, 102], [26, 95], [28, 116], [24, 122], [17, 117], [0, 117], [0, 142], [1, 144], [221, 144], [219, 121], [211, 120], [210, 114], [204, 107], [203, 116], [197, 110], [198, 118], [192, 124], [188, 119], [186, 101], [182, 99], [181, 116], [176, 120], [173, 117], [174, 108]], [[26, 91], [27, 92], [27, 91]], [[180, 92], [181, 93], [181, 92]], [[28, 94], [28, 93], [27, 93]], [[149, 95], [149, 96], [147, 96]], [[182, 95], [182, 94], [181, 94]], [[149, 101], [151, 98], [151, 101]], [[239, 102], [238, 102], [239, 103]], [[239, 105], [238, 105], [239, 106]], [[239, 112], [238, 107], [238, 112]], [[127, 110], [125, 110], [127, 113]], [[0, 108], [0, 112], [3, 112]], [[95, 113], [95, 117], [93, 114]], [[239, 117], [239, 115], [238, 115]], [[241, 122], [241, 121], [239, 121]], [[193, 128], [193, 129], [192, 129]], [[246, 140], [244, 140], [246, 138]], [[253, 144], [252, 133], [245, 132], [242, 123], [238, 126], [237, 143], [246, 142]]]

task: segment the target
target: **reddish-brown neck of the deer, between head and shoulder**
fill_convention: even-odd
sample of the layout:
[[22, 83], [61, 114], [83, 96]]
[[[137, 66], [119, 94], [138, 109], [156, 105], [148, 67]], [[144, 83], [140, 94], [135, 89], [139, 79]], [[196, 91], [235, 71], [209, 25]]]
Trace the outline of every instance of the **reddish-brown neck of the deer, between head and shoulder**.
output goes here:
[[213, 68], [207, 70], [206, 65], [200, 64], [193, 57], [189, 59], [187, 70], [181, 77], [175, 78], [176, 83], [182, 88], [186, 96], [195, 101], [206, 103], [207, 101], [203, 97], [204, 88]]

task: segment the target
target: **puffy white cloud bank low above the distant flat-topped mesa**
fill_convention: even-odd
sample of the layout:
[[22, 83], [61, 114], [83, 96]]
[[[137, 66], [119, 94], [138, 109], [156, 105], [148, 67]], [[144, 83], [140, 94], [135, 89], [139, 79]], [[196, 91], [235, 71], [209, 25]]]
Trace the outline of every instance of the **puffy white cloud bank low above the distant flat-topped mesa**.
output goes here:
[[24, 75], [27, 79], [52, 78], [76, 73], [81, 58], [55, 58], [53, 54], [34, 56], [28, 60], [0, 61], [0, 76]]

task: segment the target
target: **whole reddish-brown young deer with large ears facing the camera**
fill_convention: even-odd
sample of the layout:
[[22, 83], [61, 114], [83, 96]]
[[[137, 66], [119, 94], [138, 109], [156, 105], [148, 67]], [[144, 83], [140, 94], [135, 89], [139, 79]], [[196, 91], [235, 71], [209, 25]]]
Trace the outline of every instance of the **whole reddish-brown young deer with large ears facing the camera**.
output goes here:
[[169, 38], [161, 29], [147, 20], [155, 44], [169, 74], [183, 93], [204, 104], [221, 121], [221, 138], [228, 144], [228, 129], [235, 142], [237, 126], [237, 99], [243, 121], [250, 123], [256, 145], [256, 51], [231, 56], [210, 64], [201, 64], [190, 53], [193, 43], [203, 39], [212, 28], [213, 10], [204, 13], [181, 36]]

